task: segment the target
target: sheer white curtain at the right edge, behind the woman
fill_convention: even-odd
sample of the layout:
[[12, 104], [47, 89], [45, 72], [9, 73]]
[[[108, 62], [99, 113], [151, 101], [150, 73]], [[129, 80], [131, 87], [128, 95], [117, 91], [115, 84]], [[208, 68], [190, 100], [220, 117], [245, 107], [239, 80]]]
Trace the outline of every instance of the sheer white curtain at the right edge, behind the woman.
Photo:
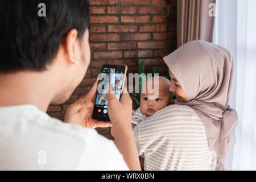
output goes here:
[[239, 123], [227, 170], [256, 170], [256, 1], [217, 0], [213, 42], [234, 56], [230, 106]]

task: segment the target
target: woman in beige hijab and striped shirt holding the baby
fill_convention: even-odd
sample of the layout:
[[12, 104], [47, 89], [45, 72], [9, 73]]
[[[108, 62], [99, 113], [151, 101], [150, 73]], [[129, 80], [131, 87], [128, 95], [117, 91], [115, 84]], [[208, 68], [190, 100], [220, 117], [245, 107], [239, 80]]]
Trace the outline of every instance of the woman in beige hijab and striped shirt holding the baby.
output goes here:
[[225, 170], [238, 123], [236, 111], [228, 105], [231, 53], [196, 40], [164, 57], [164, 62], [177, 99], [134, 130], [145, 170]]

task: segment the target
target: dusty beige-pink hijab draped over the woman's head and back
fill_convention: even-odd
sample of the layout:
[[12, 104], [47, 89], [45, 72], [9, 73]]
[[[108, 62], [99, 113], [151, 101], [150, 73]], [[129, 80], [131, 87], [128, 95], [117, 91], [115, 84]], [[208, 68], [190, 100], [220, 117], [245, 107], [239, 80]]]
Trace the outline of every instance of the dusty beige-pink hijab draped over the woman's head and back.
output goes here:
[[218, 170], [225, 170], [228, 151], [234, 146], [232, 131], [237, 126], [236, 110], [228, 105], [233, 56], [224, 47], [202, 40], [184, 44], [163, 58], [179, 81], [189, 102], [204, 123], [210, 150], [216, 152]]

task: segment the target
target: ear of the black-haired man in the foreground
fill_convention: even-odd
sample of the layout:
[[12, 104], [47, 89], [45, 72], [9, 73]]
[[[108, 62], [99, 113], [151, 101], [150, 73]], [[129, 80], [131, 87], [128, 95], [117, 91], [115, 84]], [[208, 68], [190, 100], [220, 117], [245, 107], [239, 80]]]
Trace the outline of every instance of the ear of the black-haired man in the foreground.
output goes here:
[[79, 61], [79, 44], [77, 42], [77, 30], [72, 29], [61, 40], [61, 46], [64, 48], [67, 60], [72, 64], [77, 64]]

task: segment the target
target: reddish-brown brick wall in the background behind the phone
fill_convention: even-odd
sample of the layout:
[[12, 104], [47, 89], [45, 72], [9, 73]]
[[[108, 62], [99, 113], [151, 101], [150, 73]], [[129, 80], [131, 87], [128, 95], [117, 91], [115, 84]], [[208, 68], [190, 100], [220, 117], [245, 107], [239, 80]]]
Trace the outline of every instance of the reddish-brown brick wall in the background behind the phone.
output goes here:
[[[126, 64], [137, 73], [156, 67], [168, 74], [163, 56], [176, 49], [177, 0], [90, 0], [91, 63], [84, 80], [63, 105], [51, 105], [48, 114], [63, 121], [68, 105], [84, 96], [96, 81], [102, 64]], [[112, 139], [110, 129], [97, 129]]]

